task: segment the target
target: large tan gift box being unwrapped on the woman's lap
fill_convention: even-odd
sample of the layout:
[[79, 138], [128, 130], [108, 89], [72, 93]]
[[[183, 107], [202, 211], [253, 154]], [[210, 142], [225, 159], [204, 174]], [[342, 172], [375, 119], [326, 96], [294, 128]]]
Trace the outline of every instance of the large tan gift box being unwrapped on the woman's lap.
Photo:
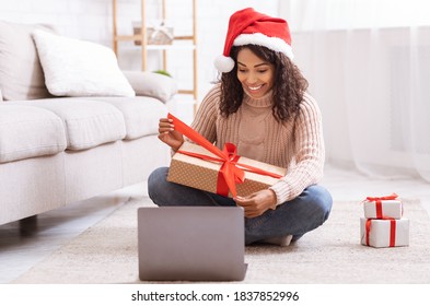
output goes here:
[[[209, 157], [206, 158], [205, 156]], [[181, 149], [172, 156], [167, 180], [189, 186], [200, 190], [232, 197], [234, 192], [222, 186], [220, 178], [223, 162], [205, 148], [184, 142]], [[286, 175], [286, 169], [251, 158], [237, 156], [234, 165], [240, 169], [251, 166], [253, 170], [244, 170], [243, 183], [236, 181], [236, 195], [248, 196], [253, 192], [267, 189]], [[262, 173], [270, 173], [267, 175]]]

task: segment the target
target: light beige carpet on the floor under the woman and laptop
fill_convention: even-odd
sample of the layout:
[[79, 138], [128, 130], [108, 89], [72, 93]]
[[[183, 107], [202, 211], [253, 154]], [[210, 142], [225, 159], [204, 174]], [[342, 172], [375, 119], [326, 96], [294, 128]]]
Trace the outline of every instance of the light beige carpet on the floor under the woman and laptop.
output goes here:
[[[21, 275], [14, 283], [138, 283], [137, 208], [131, 199], [98, 224]], [[244, 283], [430, 283], [430, 219], [418, 201], [405, 201], [410, 246], [359, 244], [362, 207], [335, 202], [325, 225], [281, 248], [246, 248]]]

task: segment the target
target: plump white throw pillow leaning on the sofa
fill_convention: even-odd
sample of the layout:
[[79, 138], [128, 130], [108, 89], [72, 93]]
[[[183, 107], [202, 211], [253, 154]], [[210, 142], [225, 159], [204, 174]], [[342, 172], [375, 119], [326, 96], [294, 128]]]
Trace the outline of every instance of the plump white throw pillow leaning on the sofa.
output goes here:
[[135, 96], [112, 49], [42, 30], [33, 38], [53, 95]]

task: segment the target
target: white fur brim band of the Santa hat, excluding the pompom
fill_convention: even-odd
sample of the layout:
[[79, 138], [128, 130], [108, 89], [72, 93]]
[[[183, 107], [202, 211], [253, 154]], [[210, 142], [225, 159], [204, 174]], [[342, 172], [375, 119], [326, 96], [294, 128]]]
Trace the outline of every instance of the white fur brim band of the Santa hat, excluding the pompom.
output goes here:
[[233, 46], [244, 46], [244, 45], [258, 45], [270, 50], [282, 52], [288, 56], [291, 60], [294, 58], [292, 48], [286, 43], [286, 40], [278, 37], [269, 37], [262, 33], [254, 34], [241, 34], [233, 43]]

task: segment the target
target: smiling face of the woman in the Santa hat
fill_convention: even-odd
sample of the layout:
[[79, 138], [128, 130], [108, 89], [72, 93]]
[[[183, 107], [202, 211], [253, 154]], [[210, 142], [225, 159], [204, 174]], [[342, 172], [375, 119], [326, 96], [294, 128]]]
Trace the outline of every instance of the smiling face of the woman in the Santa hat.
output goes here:
[[248, 48], [237, 54], [237, 79], [243, 90], [253, 98], [266, 95], [274, 86], [275, 68]]

